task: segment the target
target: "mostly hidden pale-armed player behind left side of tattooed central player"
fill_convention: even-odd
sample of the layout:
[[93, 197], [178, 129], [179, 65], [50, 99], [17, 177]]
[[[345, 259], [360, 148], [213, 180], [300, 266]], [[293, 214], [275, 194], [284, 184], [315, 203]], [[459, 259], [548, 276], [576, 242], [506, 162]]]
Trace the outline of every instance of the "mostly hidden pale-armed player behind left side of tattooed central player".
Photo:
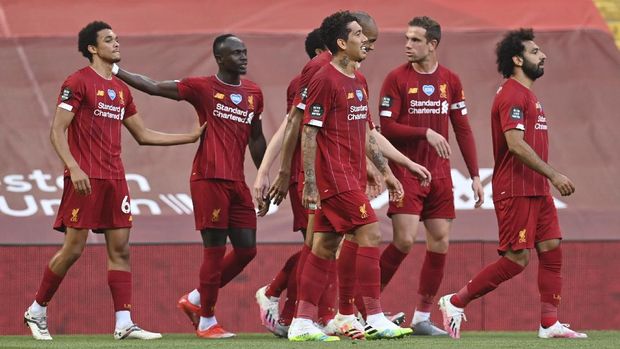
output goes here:
[[[310, 59], [316, 57], [318, 54], [325, 51], [325, 45], [321, 40], [319, 29], [315, 29], [306, 36], [305, 50]], [[299, 91], [299, 81], [301, 74], [298, 74], [291, 80], [286, 90], [286, 110], [291, 110], [293, 106], [293, 99]], [[254, 199], [257, 202], [263, 201], [263, 210], [259, 212], [259, 216], [264, 216], [267, 213], [269, 202], [264, 202], [269, 190], [269, 169], [275, 161], [282, 145], [282, 139], [284, 135], [284, 129], [286, 128], [286, 119], [273, 135], [265, 151], [265, 156], [261, 163], [256, 180], [254, 182]], [[293, 174], [290, 179], [289, 195], [291, 200], [291, 208], [293, 210], [293, 231], [301, 231], [304, 239], [306, 236], [306, 227], [308, 226], [308, 214], [306, 209], [301, 205], [300, 192], [298, 191], [298, 172], [299, 165], [301, 163], [300, 157], [300, 144], [295, 149], [293, 156], [292, 170]], [[295, 312], [295, 303], [297, 301], [297, 261], [301, 251], [293, 254], [284, 264], [284, 267], [278, 272], [275, 278], [266, 286], [261, 287], [256, 292], [256, 301], [259, 305], [261, 322], [263, 325], [276, 336], [286, 337], [288, 332], [288, 326], [293, 319]], [[335, 278], [335, 271], [332, 273]], [[333, 291], [335, 287], [331, 288]], [[282, 312], [279, 312], [278, 304], [280, 300], [280, 294], [286, 291], [286, 302]], [[321, 298], [323, 302], [319, 303], [319, 322], [326, 324], [334, 317], [334, 303], [336, 301], [336, 295], [326, 294]], [[330, 302], [331, 301], [331, 302]]]

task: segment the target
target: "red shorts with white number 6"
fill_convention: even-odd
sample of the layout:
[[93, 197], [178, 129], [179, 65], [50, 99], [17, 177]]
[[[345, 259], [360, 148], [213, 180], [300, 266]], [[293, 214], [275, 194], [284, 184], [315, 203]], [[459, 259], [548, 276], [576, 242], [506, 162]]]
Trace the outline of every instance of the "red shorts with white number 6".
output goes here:
[[103, 233], [106, 229], [131, 228], [129, 190], [124, 179], [90, 178], [90, 195], [78, 194], [71, 177], [65, 177], [64, 183], [54, 229], [64, 232], [69, 227]]

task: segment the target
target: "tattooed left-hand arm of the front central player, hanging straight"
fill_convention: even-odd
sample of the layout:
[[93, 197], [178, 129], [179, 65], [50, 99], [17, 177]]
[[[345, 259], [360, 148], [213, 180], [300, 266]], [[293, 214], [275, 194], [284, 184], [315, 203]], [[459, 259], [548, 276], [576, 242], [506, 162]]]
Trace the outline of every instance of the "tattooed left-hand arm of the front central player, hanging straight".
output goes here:
[[310, 210], [321, 208], [321, 198], [319, 189], [316, 186], [316, 135], [319, 128], [315, 126], [304, 126], [304, 133], [301, 136], [301, 151], [304, 161], [304, 192], [301, 204]]

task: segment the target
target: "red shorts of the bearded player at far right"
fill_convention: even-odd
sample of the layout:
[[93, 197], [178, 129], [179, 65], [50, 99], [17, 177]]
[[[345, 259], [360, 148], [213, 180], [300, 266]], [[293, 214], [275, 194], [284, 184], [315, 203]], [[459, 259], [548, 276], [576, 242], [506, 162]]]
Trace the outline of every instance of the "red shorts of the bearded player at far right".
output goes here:
[[537, 242], [562, 238], [551, 196], [515, 196], [494, 204], [500, 254], [509, 249], [532, 249]]

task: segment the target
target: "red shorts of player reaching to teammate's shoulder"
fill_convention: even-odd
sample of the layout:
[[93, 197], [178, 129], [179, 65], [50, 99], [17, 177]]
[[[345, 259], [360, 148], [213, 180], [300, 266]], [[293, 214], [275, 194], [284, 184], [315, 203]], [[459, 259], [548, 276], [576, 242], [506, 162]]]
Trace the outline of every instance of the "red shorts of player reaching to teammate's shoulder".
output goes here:
[[256, 211], [250, 189], [242, 181], [191, 181], [196, 230], [207, 228], [256, 229]]

